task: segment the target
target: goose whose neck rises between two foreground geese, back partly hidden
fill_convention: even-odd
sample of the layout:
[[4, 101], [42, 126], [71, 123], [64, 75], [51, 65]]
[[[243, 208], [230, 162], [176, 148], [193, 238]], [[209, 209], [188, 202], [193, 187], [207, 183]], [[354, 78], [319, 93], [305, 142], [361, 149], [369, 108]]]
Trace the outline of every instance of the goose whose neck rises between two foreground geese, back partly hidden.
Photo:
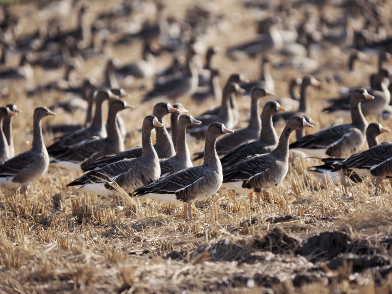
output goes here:
[[[156, 117], [158, 122], [162, 124], [161, 127], [155, 128], [156, 142], [154, 144], [154, 148], [158, 154], [158, 158], [169, 158], [175, 155], [172, 139], [170, 138], [170, 135], [165, 127], [163, 117], [169, 113], [177, 111], [178, 109], [172, 107], [170, 103], [164, 102], [159, 102], [155, 104], [153, 108], [153, 116]], [[142, 156], [142, 153], [143, 146], [136, 146], [122, 152], [98, 158], [98, 160], [83, 166], [83, 168], [84, 170], [94, 170], [123, 159], [140, 157]]]

